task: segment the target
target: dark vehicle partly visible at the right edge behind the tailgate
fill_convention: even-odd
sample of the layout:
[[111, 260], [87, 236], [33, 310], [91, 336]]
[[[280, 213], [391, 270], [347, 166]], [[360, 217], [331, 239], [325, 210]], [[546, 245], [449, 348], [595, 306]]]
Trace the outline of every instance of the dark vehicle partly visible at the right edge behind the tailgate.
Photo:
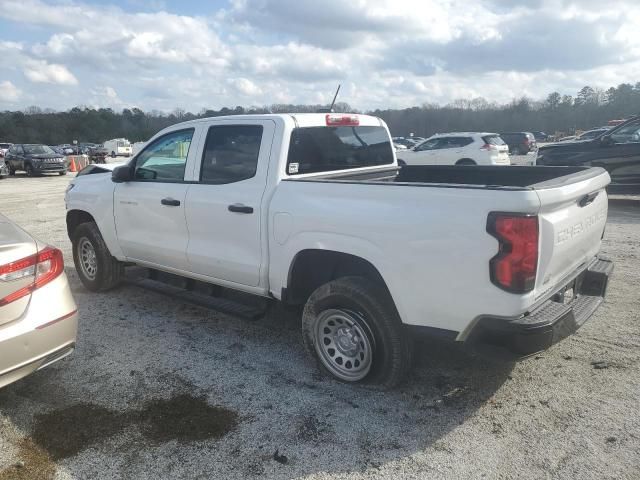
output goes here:
[[640, 192], [640, 115], [592, 139], [542, 146], [536, 164], [602, 167], [611, 192]]

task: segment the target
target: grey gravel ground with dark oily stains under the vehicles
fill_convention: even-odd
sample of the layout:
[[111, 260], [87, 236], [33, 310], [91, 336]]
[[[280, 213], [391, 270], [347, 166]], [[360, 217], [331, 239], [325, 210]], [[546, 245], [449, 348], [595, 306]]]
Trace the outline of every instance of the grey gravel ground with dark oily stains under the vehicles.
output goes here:
[[611, 202], [616, 271], [576, 335], [518, 363], [423, 342], [406, 385], [380, 393], [319, 377], [292, 313], [84, 290], [68, 181], [0, 181], [2, 213], [64, 250], [81, 313], [74, 355], [0, 391], [0, 480], [638, 478], [638, 197]]

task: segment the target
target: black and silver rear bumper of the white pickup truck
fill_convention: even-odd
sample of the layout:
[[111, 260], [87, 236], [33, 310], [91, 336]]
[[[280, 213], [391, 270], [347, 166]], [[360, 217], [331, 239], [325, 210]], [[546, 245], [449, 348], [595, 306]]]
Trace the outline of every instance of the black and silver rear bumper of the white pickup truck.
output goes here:
[[[549, 348], [580, 328], [604, 300], [613, 262], [598, 258], [534, 311], [515, 318], [483, 316], [469, 340], [498, 344], [518, 355]], [[573, 291], [570, 301], [566, 293]]]

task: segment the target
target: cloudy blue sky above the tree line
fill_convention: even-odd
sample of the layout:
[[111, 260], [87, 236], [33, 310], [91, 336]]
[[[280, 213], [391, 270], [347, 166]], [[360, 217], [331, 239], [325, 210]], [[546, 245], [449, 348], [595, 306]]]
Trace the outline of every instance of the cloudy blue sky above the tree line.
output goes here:
[[0, 110], [499, 103], [640, 81], [638, 0], [0, 0]]

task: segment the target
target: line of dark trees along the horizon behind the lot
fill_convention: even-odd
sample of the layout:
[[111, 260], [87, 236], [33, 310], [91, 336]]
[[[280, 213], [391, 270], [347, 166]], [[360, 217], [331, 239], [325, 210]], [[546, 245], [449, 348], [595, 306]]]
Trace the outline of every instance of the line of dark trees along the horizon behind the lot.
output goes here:
[[[284, 105], [202, 109], [198, 113], [176, 109], [171, 113], [144, 112], [138, 108], [76, 107], [66, 112], [29, 107], [24, 111], [0, 112], [0, 142], [58, 145], [79, 142], [102, 143], [112, 138], [146, 141], [157, 131], [178, 122], [204, 117], [261, 113], [304, 113], [327, 105]], [[354, 111], [347, 103], [335, 111]], [[622, 83], [608, 90], [585, 86], [575, 96], [552, 92], [544, 100], [527, 97], [507, 104], [483, 98], [459, 99], [441, 106], [425, 102], [419, 107], [374, 110], [393, 135], [429, 136], [450, 131], [545, 131], [573, 133], [606, 125], [609, 120], [640, 113], [640, 82]]]

